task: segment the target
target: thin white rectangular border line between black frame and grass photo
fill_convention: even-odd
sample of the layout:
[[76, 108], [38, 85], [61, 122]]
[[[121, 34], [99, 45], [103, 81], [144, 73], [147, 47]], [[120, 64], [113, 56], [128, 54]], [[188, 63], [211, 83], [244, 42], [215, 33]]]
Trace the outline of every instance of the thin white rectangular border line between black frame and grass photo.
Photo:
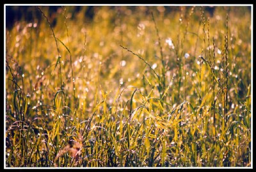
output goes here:
[[[253, 4], [4, 4], [4, 121], [6, 121], [6, 6], [251, 6], [251, 166], [253, 168]], [[6, 122], [4, 122], [4, 169], [31, 169], [6, 167]], [[108, 167], [106, 167], [108, 168]], [[175, 167], [175, 168], [108, 168], [108, 169], [193, 169], [199, 167]], [[247, 168], [247, 167], [201, 167], [201, 168]], [[35, 169], [102, 169], [102, 168], [35, 168]], [[103, 168], [105, 169], [105, 168]]]

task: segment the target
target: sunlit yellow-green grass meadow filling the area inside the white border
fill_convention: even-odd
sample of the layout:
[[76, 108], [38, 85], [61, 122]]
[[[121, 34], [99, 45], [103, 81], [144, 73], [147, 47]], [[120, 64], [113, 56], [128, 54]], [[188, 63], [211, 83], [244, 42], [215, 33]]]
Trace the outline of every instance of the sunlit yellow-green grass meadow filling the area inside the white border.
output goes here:
[[251, 167], [251, 8], [6, 6], [6, 167]]

